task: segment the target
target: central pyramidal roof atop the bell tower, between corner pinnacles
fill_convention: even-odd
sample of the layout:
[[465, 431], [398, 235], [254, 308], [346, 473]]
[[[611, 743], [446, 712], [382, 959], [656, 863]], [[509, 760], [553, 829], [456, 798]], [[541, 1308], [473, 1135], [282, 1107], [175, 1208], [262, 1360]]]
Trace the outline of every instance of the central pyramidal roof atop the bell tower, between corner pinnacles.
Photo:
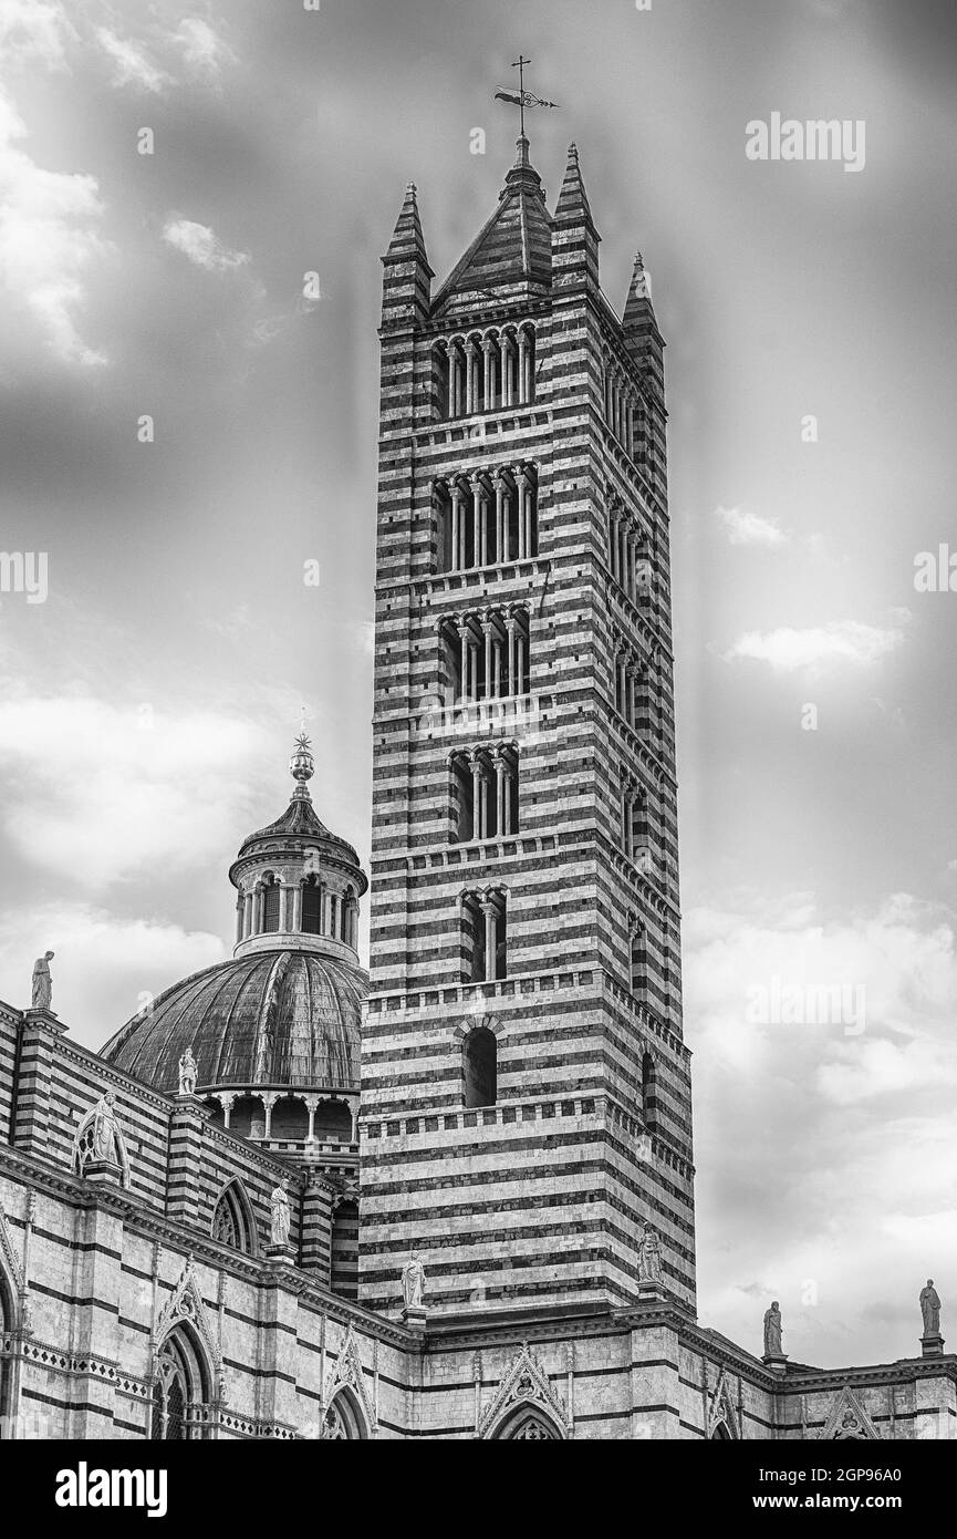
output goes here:
[[552, 220], [542, 179], [528, 159], [528, 139], [517, 140], [515, 163], [499, 194], [499, 208], [452, 268], [432, 305], [434, 315], [454, 315], [489, 299], [529, 299], [551, 285]]

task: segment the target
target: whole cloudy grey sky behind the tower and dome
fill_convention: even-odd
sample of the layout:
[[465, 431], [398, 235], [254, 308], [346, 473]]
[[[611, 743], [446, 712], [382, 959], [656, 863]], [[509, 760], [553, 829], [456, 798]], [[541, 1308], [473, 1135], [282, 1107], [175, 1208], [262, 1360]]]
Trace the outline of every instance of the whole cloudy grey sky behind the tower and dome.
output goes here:
[[[0, 549], [48, 556], [0, 593], [0, 996], [51, 945], [98, 1045], [226, 956], [303, 702], [368, 853], [378, 257], [409, 179], [440, 277], [466, 246], [525, 49], [532, 159], [554, 199], [577, 140], [669, 343], [702, 1319], [908, 1356], [928, 1274], [957, 1311], [957, 594], [914, 583], [957, 554], [954, 9], [514, 17], [0, 0]], [[863, 168], [749, 160], [772, 112]]]

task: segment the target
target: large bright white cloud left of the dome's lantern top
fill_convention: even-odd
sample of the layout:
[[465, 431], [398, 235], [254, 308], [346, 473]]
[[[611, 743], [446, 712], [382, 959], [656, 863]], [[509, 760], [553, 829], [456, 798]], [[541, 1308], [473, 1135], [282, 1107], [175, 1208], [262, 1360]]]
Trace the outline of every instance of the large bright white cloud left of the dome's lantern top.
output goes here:
[[14, 700], [0, 705], [0, 817], [18, 856], [63, 883], [166, 877], [223, 860], [265, 759], [262, 733], [229, 716]]

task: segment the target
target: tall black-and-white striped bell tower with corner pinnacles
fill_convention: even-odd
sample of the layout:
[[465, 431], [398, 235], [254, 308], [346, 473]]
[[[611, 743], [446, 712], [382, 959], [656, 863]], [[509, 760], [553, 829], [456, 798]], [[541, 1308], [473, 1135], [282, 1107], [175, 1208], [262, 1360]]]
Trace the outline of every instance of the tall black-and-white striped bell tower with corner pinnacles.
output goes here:
[[[360, 1299], [694, 1308], [662, 336], [572, 145], [383, 259]], [[655, 1247], [657, 1237], [657, 1247]]]

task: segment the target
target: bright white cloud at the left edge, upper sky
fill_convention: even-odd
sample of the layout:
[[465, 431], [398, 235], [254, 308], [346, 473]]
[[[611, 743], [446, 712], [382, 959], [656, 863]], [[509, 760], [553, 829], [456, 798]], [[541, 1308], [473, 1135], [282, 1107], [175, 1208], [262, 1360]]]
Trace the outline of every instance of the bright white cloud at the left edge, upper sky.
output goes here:
[[63, 362], [100, 365], [75, 325], [83, 275], [112, 248], [95, 229], [103, 214], [95, 177], [45, 171], [18, 140], [26, 128], [0, 94], [0, 282], [35, 317]]

